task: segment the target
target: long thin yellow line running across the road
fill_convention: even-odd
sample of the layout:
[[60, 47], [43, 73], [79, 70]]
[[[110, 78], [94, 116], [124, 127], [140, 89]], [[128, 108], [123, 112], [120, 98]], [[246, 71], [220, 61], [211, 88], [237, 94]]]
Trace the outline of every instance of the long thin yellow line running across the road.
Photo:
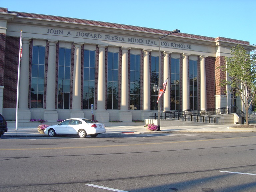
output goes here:
[[191, 140], [191, 141], [170, 141], [170, 142], [158, 142], [158, 143], [141, 143], [141, 144], [126, 144], [126, 145], [100, 145], [100, 146], [83, 146], [83, 147], [52, 147], [52, 148], [21, 148], [21, 149], [0, 149], [0, 151], [14, 151], [14, 150], [50, 150], [50, 149], [81, 149], [81, 148], [99, 148], [99, 147], [123, 147], [123, 146], [138, 146], [138, 145], [160, 145], [170, 143], [188, 143], [188, 142], [202, 142], [202, 141], [217, 141], [217, 140], [228, 140], [228, 139], [241, 139], [248, 137], [232, 137], [232, 138], [218, 138], [218, 139], [202, 139], [202, 140]]

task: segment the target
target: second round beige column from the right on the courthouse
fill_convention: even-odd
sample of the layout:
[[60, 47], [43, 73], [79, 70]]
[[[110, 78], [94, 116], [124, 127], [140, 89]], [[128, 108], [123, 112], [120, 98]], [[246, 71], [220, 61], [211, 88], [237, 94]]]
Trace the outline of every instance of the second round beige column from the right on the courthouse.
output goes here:
[[189, 110], [189, 77], [188, 77], [188, 56], [183, 53], [183, 70], [182, 70], [182, 109]]

